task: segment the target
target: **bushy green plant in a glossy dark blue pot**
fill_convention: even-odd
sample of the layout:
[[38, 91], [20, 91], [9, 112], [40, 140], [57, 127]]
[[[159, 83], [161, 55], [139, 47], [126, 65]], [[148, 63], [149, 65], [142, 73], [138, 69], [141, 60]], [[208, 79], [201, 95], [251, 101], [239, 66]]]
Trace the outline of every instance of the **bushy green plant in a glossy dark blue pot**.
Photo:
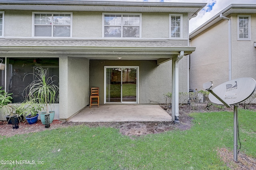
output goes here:
[[42, 106], [36, 103], [36, 99], [25, 101], [17, 108], [19, 115], [23, 115], [30, 125], [38, 121], [38, 111], [42, 110]]

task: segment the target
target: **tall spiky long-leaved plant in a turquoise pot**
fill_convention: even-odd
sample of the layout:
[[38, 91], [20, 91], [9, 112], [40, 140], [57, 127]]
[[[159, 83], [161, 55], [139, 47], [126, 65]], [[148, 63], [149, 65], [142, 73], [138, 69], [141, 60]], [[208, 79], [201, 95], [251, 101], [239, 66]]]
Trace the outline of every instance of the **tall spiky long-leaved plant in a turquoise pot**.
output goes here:
[[[45, 125], [44, 116], [50, 114], [50, 123], [52, 123], [55, 115], [55, 111], [49, 111], [49, 105], [58, 102], [59, 87], [54, 84], [54, 76], [47, 77], [48, 69], [42, 67], [34, 67], [35, 73], [28, 73], [27, 75], [34, 75], [34, 80], [24, 89], [23, 94], [26, 94], [28, 101], [36, 99], [36, 103], [46, 109], [45, 112], [40, 113], [42, 124]], [[23, 79], [24, 81], [24, 79]]]

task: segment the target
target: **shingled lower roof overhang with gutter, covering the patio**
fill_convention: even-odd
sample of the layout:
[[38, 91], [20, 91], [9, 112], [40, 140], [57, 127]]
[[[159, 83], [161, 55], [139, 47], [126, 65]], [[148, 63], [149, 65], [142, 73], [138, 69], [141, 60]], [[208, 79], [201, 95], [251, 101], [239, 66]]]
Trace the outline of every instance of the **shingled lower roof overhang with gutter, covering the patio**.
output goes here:
[[[169, 40], [35, 40], [0, 39], [4, 57], [57, 56], [88, 59], [122, 59], [166, 61], [184, 51], [188, 55], [195, 47], [177, 46]], [[160, 60], [159, 60], [160, 59]]]

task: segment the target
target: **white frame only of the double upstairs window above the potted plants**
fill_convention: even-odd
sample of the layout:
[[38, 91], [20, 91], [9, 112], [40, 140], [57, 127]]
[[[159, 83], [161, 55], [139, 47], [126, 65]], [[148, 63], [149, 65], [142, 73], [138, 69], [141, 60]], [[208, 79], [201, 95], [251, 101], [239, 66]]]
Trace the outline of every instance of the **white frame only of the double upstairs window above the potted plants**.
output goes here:
[[[34, 23], [34, 18], [35, 14], [70, 14], [70, 36], [69, 37], [54, 37], [53, 36], [53, 27], [54, 25], [52, 24], [52, 36], [51, 37], [46, 37], [46, 36], [35, 36], [35, 23]], [[72, 27], [73, 27], [73, 13], [72, 12], [32, 12], [32, 37], [36, 38], [72, 38]]]

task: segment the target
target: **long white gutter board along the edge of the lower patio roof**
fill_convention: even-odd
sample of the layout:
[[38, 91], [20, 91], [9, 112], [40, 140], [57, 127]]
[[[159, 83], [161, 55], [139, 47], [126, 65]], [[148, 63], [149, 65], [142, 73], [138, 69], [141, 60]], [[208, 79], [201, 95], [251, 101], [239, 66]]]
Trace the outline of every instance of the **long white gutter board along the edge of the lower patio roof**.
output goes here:
[[2, 53], [62, 53], [62, 54], [179, 54], [188, 55], [195, 47], [70, 47], [70, 46], [2, 46]]

